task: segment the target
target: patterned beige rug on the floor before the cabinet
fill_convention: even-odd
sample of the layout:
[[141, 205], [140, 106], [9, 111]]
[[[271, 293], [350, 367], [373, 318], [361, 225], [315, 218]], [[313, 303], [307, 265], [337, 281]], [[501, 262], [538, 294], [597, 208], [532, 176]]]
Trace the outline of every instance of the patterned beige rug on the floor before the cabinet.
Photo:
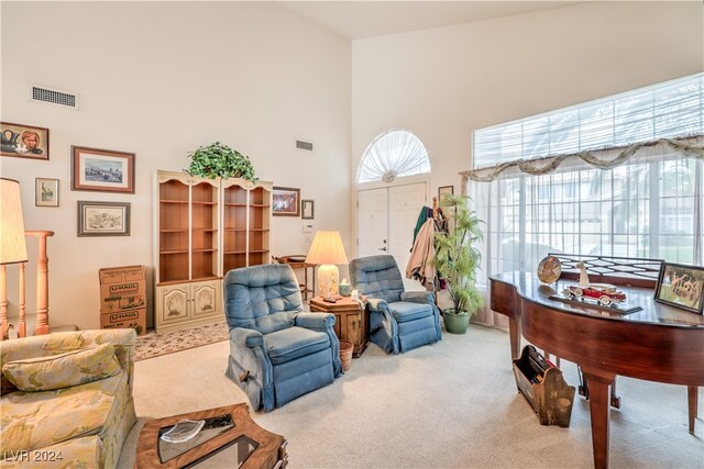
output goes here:
[[174, 351], [201, 347], [216, 342], [227, 340], [228, 337], [228, 324], [224, 322], [170, 332], [168, 334], [155, 334], [152, 332], [145, 336], [138, 337], [134, 360], [146, 360], [147, 358], [173, 354]]

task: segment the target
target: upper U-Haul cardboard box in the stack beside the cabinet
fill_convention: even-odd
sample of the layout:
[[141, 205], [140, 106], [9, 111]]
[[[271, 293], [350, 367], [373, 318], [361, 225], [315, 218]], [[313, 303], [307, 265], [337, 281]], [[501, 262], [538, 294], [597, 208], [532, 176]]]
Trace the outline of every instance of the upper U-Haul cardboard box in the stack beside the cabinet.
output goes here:
[[144, 266], [100, 269], [100, 313], [144, 309], [146, 280]]

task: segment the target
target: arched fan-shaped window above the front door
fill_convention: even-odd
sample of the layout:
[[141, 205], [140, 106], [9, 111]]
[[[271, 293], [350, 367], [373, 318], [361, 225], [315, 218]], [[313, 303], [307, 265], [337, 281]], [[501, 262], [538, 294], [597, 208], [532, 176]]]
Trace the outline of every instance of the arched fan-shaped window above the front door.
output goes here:
[[392, 182], [397, 177], [424, 172], [430, 172], [430, 159], [420, 138], [405, 129], [392, 129], [366, 147], [356, 182]]

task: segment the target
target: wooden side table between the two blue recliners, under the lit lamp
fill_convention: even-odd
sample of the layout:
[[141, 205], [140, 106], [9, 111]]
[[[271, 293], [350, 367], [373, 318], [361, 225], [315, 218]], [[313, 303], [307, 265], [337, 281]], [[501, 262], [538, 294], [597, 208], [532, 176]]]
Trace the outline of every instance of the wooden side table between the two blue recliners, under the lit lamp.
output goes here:
[[350, 340], [354, 344], [352, 356], [358, 358], [370, 342], [370, 317], [360, 303], [350, 297], [342, 297], [337, 303], [322, 301], [321, 297], [310, 300], [310, 311], [334, 314], [334, 333], [340, 340]]

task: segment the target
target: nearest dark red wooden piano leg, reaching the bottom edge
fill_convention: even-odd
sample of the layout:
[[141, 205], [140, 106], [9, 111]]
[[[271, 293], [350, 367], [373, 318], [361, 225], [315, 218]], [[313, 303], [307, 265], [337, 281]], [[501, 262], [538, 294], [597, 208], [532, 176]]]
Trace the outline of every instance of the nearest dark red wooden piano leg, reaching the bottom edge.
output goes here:
[[615, 377], [601, 377], [582, 371], [590, 381], [590, 415], [594, 468], [608, 468], [608, 386]]

